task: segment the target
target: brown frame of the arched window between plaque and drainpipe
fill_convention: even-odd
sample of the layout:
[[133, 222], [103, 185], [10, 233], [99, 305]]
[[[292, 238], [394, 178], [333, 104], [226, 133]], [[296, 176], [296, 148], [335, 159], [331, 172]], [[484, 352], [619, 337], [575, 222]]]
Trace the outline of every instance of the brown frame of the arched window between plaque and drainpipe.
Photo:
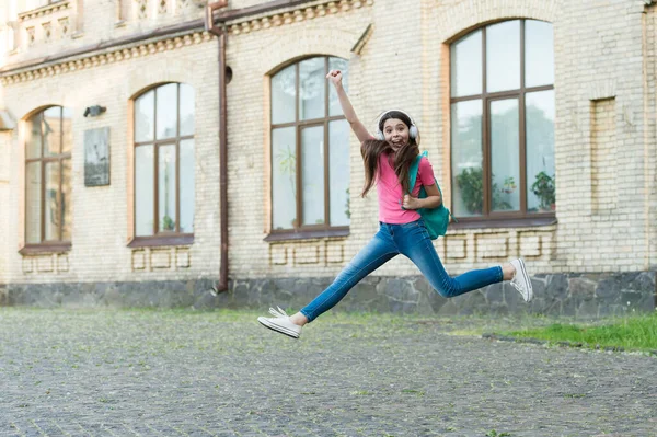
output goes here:
[[[158, 89], [169, 85], [176, 85], [176, 135], [166, 139], [157, 139], [158, 136]], [[194, 151], [196, 152], [196, 107], [194, 113], [194, 134], [181, 136], [181, 85], [186, 84], [184, 82], [163, 82], [158, 83], [155, 85], [149, 87], [143, 90], [132, 100], [134, 107], [137, 105], [139, 99], [143, 97], [147, 93], [153, 92], [153, 139], [151, 141], [136, 141], [136, 133], [137, 133], [137, 112], [132, 111], [132, 183], [134, 183], [134, 193], [132, 193], [132, 239], [128, 243], [128, 248], [146, 248], [146, 246], [159, 246], [159, 245], [189, 245], [194, 243], [194, 232], [180, 232], [181, 228], [181, 174], [180, 174], [180, 156], [181, 156], [181, 142], [185, 140], [194, 141]], [[194, 90], [194, 102], [196, 106], [196, 90]], [[138, 147], [153, 147], [153, 233], [151, 235], [137, 235], [137, 148]], [[166, 232], [160, 230], [160, 219], [159, 219], [159, 151], [161, 147], [174, 146], [175, 147], [175, 211], [176, 211], [176, 223], [175, 223], [175, 232]], [[196, 161], [196, 153], [194, 154]], [[196, 169], [195, 169], [196, 170]], [[196, 177], [196, 174], [195, 174]], [[195, 193], [196, 196], [196, 193]], [[194, 204], [196, 205], [196, 197], [194, 199]]]

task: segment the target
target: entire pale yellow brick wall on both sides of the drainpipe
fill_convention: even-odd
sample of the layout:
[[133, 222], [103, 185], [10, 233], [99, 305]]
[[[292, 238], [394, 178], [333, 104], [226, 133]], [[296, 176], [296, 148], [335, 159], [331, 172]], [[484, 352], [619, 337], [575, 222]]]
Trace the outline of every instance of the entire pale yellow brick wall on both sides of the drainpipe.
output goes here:
[[[257, 3], [262, 1], [234, 1], [231, 8]], [[87, 23], [94, 20], [94, 14], [99, 14], [94, 21], [101, 32], [97, 35], [118, 37], [139, 27], [135, 23], [115, 27], [113, 19], [101, 16], [103, 11], [110, 14], [113, 4], [100, 4], [91, 12], [85, 9], [81, 37], [85, 44], [93, 41]], [[310, 4], [331, 7], [321, 1]], [[349, 95], [360, 118], [373, 129], [378, 114], [385, 108], [410, 112], [422, 133], [420, 148], [429, 151], [449, 202], [448, 44], [468, 30], [512, 18], [543, 20], [554, 25], [558, 223], [452, 230], [435, 243], [448, 272], [485, 267], [518, 255], [526, 257], [532, 273], [629, 272], [655, 266], [657, 161], [655, 126], [646, 115], [655, 112], [650, 97], [655, 83], [654, 79], [646, 83], [643, 79], [644, 69], [655, 71], [649, 32], [655, 31], [654, 7], [646, 9], [644, 2], [633, 0], [604, 3], [603, 8], [595, 0], [408, 0], [403, 2], [403, 10], [399, 1], [374, 0], [335, 2], [332, 7], [334, 11], [323, 16], [313, 13], [313, 18], [307, 15], [306, 7], [297, 14], [286, 10], [290, 14], [280, 15], [280, 24], [268, 28], [262, 26], [262, 21], [254, 24], [251, 19], [229, 27], [227, 62], [233, 71], [228, 85], [231, 278], [334, 276], [378, 227], [376, 192], [365, 199], [358, 196], [362, 164], [358, 142], [351, 135], [350, 235], [301, 242], [263, 241], [270, 212], [268, 74], [304, 56], [348, 59]], [[370, 23], [374, 26], [371, 38], [360, 55], [353, 54], [351, 47]], [[644, 39], [652, 43], [647, 57], [642, 51]], [[5, 200], [14, 211], [9, 219], [0, 219], [0, 234], [9, 241], [4, 264], [0, 250], [0, 283], [3, 265], [5, 280], [19, 283], [218, 276], [217, 42], [211, 38], [175, 49], [153, 46], [152, 51], [4, 85], [5, 105], [18, 118], [48, 104], [74, 111], [74, 219], [73, 248], [66, 258], [25, 261], [18, 254], [23, 231], [20, 212], [15, 211], [22, 210], [23, 158], [19, 133], [14, 131], [9, 146], [10, 182], [2, 185], [0, 181], [0, 202]], [[128, 102], [139, 90], [170, 80], [189, 83], [196, 90], [195, 243], [188, 249], [132, 251], [126, 248], [131, 225]], [[648, 94], [647, 87], [653, 94]], [[93, 104], [107, 106], [107, 113], [99, 118], [82, 117], [84, 107]], [[84, 187], [83, 130], [103, 126], [112, 129], [112, 185]], [[1, 138], [0, 134], [0, 148]], [[607, 153], [614, 148], [615, 162]], [[607, 189], [604, 184], [610, 180], [614, 186]], [[615, 207], [603, 208], [601, 214], [600, 205], [606, 205], [608, 193], [614, 193]], [[38, 272], [39, 266], [53, 272]], [[397, 257], [377, 274], [414, 275], [417, 269]]]

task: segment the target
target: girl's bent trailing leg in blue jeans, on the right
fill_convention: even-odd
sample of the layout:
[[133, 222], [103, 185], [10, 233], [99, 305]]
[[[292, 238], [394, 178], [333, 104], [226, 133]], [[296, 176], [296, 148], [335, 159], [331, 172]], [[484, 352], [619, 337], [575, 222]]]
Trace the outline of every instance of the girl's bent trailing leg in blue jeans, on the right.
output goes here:
[[470, 271], [453, 278], [450, 277], [445, 271], [424, 225], [413, 232], [413, 238], [407, 240], [407, 244], [404, 244], [402, 253], [415, 263], [431, 287], [446, 298], [453, 298], [503, 280], [503, 272], [499, 266]]

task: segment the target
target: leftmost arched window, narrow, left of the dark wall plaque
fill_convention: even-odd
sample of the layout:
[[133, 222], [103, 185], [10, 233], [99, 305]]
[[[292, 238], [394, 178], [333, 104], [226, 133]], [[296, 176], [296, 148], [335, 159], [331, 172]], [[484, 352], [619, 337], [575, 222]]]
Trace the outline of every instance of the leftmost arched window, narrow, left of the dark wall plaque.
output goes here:
[[25, 128], [25, 242], [71, 241], [71, 112], [51, 106]]

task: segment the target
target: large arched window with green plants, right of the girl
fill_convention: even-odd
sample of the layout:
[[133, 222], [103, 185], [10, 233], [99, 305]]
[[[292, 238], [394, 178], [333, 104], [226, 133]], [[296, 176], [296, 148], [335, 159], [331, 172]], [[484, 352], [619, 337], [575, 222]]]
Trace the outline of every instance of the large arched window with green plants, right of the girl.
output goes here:
[[454, 216], [553, 217], [552, 24], [512, 20], [450, 47]]

